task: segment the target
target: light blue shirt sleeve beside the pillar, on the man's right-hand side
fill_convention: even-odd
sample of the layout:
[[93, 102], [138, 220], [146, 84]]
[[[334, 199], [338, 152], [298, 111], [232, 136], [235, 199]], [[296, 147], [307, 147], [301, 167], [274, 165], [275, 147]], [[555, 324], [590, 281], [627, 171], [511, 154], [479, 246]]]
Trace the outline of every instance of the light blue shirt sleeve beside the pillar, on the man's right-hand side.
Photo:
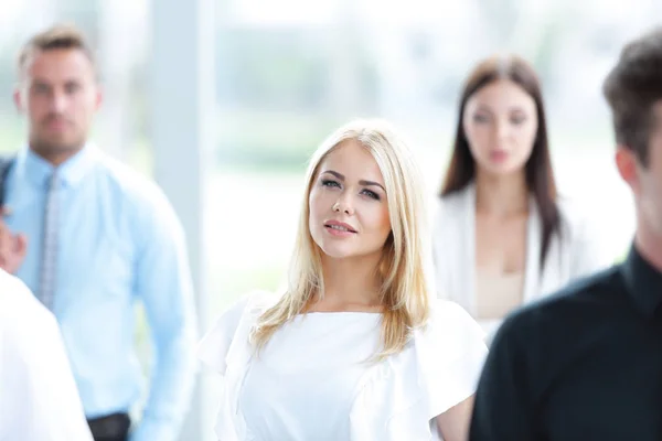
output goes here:
[[142, 301], [153, 357], [149, 396], [131, 441], [174, 441], [188, 415], [196, 375], [196, 319], [183, 228], [160, 191], [136, 209], [139, 240], [135, 295]]

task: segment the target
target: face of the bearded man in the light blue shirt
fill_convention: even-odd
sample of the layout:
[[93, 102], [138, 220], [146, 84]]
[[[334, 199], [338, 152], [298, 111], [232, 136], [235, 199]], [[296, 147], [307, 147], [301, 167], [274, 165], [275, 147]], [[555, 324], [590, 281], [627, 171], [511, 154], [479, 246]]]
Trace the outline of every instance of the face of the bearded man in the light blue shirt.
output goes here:
[[102, 96], [83, 51], [53, 49], [28, 61], [14, 100], [28, 115], [30, 147], [56, 159], [85, 144]]

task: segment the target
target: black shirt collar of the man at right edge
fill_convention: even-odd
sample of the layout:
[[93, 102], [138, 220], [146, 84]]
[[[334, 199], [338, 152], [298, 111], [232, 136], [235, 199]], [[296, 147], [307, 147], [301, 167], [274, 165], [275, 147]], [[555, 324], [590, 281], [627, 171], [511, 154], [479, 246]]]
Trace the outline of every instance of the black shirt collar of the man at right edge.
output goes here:
[[653, 318], [662, 304], [662, 271], [655, 269], [639, 252], [636, 245], [622, 265], [626, 287], [639, 311]]

